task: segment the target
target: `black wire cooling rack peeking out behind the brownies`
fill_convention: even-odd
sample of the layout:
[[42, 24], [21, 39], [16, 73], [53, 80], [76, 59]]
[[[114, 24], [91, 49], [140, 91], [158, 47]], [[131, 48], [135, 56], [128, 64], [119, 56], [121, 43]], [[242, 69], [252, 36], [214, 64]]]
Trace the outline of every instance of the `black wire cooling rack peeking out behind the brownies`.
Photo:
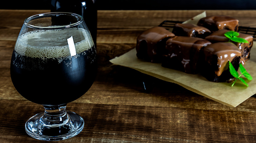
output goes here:
[[[160, 23], [158, 26], [164, 27], [165, 29], [169, 30], [170, 28], [173, 28], [175, 26], [175, 24], [177, 24], [177, 23], [182, 23], [182, 22], [181, 21], [165, 20], [162, 23]], [[251, 36], [253, 36], [253, 40], [256, 41], [256, 28], [238, 26], [237, 32], [251, 35]]]

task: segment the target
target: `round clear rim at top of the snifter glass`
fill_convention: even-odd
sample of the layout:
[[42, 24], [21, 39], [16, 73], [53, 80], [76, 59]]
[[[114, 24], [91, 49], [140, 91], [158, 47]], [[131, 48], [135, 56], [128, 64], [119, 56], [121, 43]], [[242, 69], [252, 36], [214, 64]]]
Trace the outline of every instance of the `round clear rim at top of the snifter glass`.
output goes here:
[[[38, 19], [39, 17], [47, 16], [47, 15], [73, 15], [73, 16], [79, 17], [80, 20], [75, 22], [75, 23], [72, 23], [72, 24], [52, 26], [52, 27], [51, 26], [36, 26], [36, 25], [33, 25], [33, 24], [28, 24], [34, 18]], [[81, 15], [75, 14], [75, 13], [70, 13], [70, 12], [47, 12], [47, 13], [36, 14], [36, 15], [33, 15], [33, 16], [30, 16], [30, 17], [26, 18], [25, 21], [24, 21], [24, 24], [31, 27], [31, 28], [36, 28], [36, 29], [56, 29], [56, 28], [60, 29], [60, 28], [69, 28], [69, 27], [78, 25], [78, 24], [82, 23], [83, 20], [84, 19]]]

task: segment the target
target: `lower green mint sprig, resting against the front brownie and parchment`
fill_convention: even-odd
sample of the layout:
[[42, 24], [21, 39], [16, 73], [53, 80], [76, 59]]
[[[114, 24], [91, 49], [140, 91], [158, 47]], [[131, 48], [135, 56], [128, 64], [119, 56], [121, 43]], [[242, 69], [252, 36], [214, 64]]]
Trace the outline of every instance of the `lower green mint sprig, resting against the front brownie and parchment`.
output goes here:
[[240, 81], [242, 81], [247, 87], [248, 84], [245, 82], [245, 80], [243, 78], [241, 78], [242, 75], [244, 75], [248, 80], [252, 80], [251, 75], [245, 70], [245, 68], [243, 67], [243, 65], [240, 63], [239, 64], [239, 69], [241, 74], [239, 75], [238, 72], [235, 70], [235, 68], [233, 67], [233, 65], [231, 64], [230, 61], [228, 61], [229, 63], [229, 71], [231, 73], [231, 75], [233, 75], [236, 80], [234, 81], [234, 83], [232, 84], [231, 87], [233, 87], [233, 85], [235, 84], [235, 82], [237, 81], [237, 79], [239, 79]]

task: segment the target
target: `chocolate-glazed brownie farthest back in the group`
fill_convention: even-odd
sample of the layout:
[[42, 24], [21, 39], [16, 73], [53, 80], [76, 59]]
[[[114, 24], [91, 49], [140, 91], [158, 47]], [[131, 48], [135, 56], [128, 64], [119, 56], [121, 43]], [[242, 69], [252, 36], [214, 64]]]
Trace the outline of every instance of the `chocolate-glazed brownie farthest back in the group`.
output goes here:
[[203, 26], [209, 29], [211, 32], [218, 31], [220, 29], [227, 29], [232, 31], [237, 31], [238, 20], [229, 16], [216, 15], [216, 16], [206, 16], [201, 18], [197, 25]]

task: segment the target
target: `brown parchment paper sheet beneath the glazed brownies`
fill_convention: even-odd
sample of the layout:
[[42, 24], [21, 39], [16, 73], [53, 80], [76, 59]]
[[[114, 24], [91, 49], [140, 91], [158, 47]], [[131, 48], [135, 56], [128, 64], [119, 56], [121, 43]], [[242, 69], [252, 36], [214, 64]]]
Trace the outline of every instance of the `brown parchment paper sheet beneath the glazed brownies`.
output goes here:
[[[205, 17], [205, 12], [201, 15]], [[197, 16], [197, 19], [200, 18]], [[194, 19], [191, 20], [194, 22]], [[200, 74], [187, 74], [182, 71], [164, 68], [161, 66], [161, 63], [151, 63], [138, 59], [136, 53], [136, 49], [134, 48], [124, 55], [110, 60], [110, 62], [115, 65], [135, 69], [164, 81], [176, 83], [188, 90], [230, 107], [236, 107], [256, 93], [256, 72], [254, 72], [256, 70], [255, 42], [251, 49], [251, 58], [244, 65], [246, 71], [248, 71], [253, 78], [251, 81], [245, 79], [249, 87], [238, 80], [235, 85], [231, 87], [232, 83], [215, 83], [208, 81]], [[240, 74], [240, 71], [238, 72]]]

